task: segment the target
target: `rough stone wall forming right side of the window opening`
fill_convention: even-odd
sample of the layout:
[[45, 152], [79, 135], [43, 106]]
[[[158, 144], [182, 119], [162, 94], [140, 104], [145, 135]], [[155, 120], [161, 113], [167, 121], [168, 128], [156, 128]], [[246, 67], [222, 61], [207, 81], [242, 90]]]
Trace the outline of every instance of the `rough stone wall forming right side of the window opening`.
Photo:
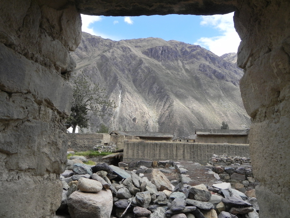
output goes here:
[[253, 120], [250, 153], [255, 178], [260, 181], [256, 194], [262, 218], [290, 214], [289, 15], [289, 1], [251, 0], [240, 2], [234, 16], [242, 39], [240, 89]]

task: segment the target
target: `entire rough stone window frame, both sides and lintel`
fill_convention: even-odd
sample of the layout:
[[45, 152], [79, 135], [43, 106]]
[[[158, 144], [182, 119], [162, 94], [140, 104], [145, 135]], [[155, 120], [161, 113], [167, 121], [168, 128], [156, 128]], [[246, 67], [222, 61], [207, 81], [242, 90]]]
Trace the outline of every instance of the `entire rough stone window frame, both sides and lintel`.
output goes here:
[[2, 0], [0, 216], [52, 217], [60, 205], [58, 177], [66, 162], [63, 119], [71, 97], [67, 79], [75, 67], [69, 51], [80, 42], [80, 12], [137, 16], [233, 11], [242, 40], [240, 89], [253, 119], [249, 144], [260, 181], [260, 217], [288, 217], [290, 2], [284, 0]]

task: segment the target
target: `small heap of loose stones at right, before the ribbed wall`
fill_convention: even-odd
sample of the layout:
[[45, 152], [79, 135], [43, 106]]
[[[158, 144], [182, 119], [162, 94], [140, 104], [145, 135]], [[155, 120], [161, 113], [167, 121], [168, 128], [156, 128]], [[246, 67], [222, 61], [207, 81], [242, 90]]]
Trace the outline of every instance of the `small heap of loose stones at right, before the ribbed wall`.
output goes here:
[[244, 163], [251, 163], [251, 158], [245, 157], [231, 157], [226, 154], [223, 155], [216, 155], [213, 154], [212, 158], [209, 162], [213, 166], [226, 166], [231, 164], [244, 164]]

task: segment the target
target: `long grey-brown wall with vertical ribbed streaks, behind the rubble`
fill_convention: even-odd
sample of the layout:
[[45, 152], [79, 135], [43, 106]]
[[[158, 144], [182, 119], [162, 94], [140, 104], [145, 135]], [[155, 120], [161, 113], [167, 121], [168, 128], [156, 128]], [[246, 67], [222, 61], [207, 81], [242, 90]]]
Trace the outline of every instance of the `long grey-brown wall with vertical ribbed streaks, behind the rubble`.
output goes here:
[[248, 144], [125, 142], [123, 161], [191, 160], [205, 164], [213, 154], [249, 157]]

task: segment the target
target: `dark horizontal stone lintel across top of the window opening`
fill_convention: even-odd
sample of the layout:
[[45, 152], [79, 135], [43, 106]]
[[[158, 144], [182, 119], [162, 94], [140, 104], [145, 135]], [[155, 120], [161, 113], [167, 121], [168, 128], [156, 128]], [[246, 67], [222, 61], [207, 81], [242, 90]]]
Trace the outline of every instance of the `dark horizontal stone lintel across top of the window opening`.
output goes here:
[[213, 15], [227, 14], [235, 11], [235, 0], [191, 0], [191, 1], [131, 1], [113, 0], [76, 0], [79, 12], [87, 15], [104, 16], [140, 16], [140, 15], [168, 15], [191, 14]]

